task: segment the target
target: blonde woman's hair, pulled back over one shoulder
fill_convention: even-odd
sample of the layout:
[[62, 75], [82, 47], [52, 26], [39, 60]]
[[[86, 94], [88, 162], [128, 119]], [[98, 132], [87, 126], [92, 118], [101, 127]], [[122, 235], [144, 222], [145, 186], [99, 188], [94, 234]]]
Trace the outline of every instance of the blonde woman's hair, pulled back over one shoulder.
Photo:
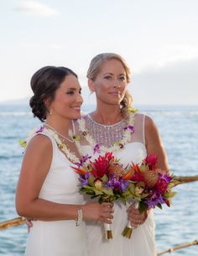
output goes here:
[[[100, 73], [102, 69], [102, 65], [106, 63], [108, 60], [112, 60], [112, 59], [119, 60], [122, 63], [124, 70], [126, 72], [127, 82], [129, 83], [130, 74], [131, 74], [130, 68], [128, 67], [126, 60], [124, 60], [121, 55], [117, 55], [114, 53], [103, 53], [100, 55], [96, 55], [91, 60], [90, 66], [86, 73], [86, 77], [94, 81], [96, 79], [96, 76]], [[122, 99], [122, 102], [120, 102], [121, 112], [123, 116], [127, 115], [128, 113], [127, 109], [128, 107], [132, 107], [132, 103], [133, 103], [132, 96], [128, 91], [126, 91], [125, 96]]]

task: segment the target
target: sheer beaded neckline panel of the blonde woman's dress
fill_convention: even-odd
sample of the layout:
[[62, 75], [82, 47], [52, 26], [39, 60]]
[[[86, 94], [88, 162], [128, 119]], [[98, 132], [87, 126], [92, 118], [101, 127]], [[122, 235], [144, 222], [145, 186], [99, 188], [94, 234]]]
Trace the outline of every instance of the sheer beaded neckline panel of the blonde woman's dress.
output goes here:
[[126, 127], [127, 121], [125, 119], [122, 119], [119, 123], [104, 125], [96, 123], [90, 115], [86, 118], [86, 128], [91, 137], [95, 138], [97, 144], [102, 144], [105, 147], [111, 147], [115, 142], [120, 141]]

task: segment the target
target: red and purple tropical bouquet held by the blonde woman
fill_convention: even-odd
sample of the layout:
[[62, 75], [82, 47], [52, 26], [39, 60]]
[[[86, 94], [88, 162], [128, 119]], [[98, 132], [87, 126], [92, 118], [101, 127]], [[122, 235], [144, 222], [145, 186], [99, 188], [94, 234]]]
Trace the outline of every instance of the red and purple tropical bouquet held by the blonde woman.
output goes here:
[[[162, 204], [170, 206], [171, 198], [176, 192], [171, 191], [172, 187], [178, 185], [178, 180], [169, 175], [166, 170], [157, 168], [158, 157], [155, 154], [148, 154], [140, 165], [131, 165], [130, 185], [125, 191], [127, 200], [136, 200], [139, 212], [147, 211], [156, 206], [162, 209]], [[128, 172], [129, 175], [129, 172]], [[131, 238], [133, 227], [130, 222], [124, 228], [122, 235]]]

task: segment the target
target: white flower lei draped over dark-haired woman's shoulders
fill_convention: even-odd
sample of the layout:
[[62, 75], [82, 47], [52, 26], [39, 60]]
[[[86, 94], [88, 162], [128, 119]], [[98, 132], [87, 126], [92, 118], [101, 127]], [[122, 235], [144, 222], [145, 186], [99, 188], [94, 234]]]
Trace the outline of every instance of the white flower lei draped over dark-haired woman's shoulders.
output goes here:
[[44, 126], [41, 126], [39, 130], [32, 131], [29, 133], [29, 136], [27, 138], [27, 141], [19, 141], [19, 144], [21, 144], [22, 147], [26, 147], [27, 142], [30, 138], [34, 136], [34, 134], [42, 134], [43, 132], [48, 133], [52, 138], [55, 139], [55, 143], [57, 144], [58, 148], [65, 154], [66, 158], [69, 159], [72, 163], [79, 162], [79, 158], [76, 157], [76, 154], [70, 152], [70, 149], [66, 146], [65, 143], [62, 142], [62, 140], [59, 138], [59, 135], [55, 133], [55, 131], [51, 130], [50, 128], [44, 128]]

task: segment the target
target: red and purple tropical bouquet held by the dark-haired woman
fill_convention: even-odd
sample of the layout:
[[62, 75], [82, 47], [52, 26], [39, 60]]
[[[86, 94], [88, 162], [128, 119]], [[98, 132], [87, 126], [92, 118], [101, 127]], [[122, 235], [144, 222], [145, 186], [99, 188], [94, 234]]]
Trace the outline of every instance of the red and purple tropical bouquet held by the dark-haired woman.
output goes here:
[[[128, 166], [123, 168], [118, 159], [112, 153], [107, 152], [104, 156], [99, 155], [97, 159], [91, 161], [91, 157], [86, 155], [81, 159], [81, 163], [73, 167], [80, 175], [80, 191], [90, 195], [91, 198], [98, 197], [98, 201], [112, 202], [117, 199], [127, 201], [128, 194], [124, 194], [128, 189]], [[112, 239], [112, 228], [105, 223], [106, 238]]]

